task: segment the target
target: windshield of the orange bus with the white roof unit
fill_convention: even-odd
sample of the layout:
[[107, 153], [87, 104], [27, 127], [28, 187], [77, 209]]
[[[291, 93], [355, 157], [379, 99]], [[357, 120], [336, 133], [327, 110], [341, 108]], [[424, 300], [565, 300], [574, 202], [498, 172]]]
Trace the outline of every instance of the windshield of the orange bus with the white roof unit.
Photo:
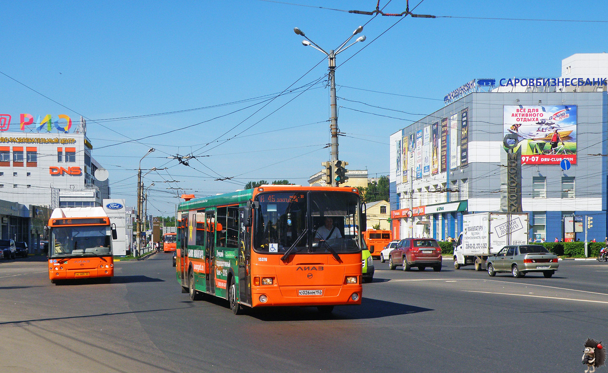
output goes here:
[[106, 226], [54, 227], [51, 257], [112, 255], [110, 228]]

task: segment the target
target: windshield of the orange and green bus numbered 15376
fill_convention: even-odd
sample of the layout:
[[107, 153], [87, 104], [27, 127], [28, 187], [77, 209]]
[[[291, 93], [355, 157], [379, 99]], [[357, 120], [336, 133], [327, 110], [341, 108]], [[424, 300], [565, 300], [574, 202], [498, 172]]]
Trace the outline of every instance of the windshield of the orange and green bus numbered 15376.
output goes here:
[[359, 198], [343, 192], [259, 194], [254, 250], [261, 253], [353, 253], [358, 241]]

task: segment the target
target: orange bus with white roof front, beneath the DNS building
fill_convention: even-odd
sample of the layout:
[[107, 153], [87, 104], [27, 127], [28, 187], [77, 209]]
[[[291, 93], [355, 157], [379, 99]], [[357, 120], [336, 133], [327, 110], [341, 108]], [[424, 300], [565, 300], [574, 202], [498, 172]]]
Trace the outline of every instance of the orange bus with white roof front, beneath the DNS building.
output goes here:
[[46, 228], [50, 282], [80, 278], [109, 282], [114, 276], [112, 241], [117, 233], [103, 207], [55, 208]]

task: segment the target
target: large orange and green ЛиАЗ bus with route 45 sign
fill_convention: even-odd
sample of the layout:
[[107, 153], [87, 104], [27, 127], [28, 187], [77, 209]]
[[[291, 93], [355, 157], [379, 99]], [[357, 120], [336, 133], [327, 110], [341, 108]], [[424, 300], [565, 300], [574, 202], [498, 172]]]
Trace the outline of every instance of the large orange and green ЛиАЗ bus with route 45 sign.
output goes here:
[[224, 298], [235, 315], [361, 304], [365, 213], [355, 188], [262, 185], [182, 197], [176, 278], [190, 299]]

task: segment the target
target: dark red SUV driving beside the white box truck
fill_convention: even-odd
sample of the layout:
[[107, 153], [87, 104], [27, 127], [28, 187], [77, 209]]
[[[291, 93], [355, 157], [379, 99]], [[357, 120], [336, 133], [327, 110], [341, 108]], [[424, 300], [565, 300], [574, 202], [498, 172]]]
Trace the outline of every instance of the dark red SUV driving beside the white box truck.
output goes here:
[[432, 238], [406, 238], [390, 252], [389, 268], [395, 269], [402, 265], [404, 271], [418, 267], [423, 271], [426, 267], [433, 267], [435, 272], [441, 271], [441, 247]]

